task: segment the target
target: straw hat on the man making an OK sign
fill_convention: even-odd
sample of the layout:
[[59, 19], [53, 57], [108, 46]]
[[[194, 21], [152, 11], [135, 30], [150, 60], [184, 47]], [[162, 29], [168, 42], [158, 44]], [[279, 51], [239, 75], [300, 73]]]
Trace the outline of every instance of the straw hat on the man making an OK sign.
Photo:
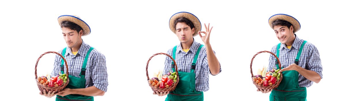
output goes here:
[[194, 36], [197, 36], [198, 34], [198, 31], [201, 30], [201, 24], [200, 24], [200, 21], [199, 19], [191, 14], [191, 13], [188, 13], [188, 12], [179, 12], [179, 13], [175, 13], [170, 19], [169, 19], [169, 28], [172, 30], [172, 32], [174, 34], [176, 34], [176, 29], [175, 29], [175, 26], [174, 25], [174, 21], [176, 20], [176, 18], [179, 18], [179, 17], [185, 17], [187, 19], [189, 19], [193, 25], [195, 26], [195, 33], [193, 33], [193, 37]]

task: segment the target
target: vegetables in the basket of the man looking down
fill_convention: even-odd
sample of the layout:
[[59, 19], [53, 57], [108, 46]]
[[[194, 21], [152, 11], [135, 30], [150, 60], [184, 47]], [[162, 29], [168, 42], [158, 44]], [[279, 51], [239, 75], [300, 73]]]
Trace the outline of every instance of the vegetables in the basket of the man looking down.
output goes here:
[[44, 85], [44, 86], [57, 87], [66, 83], [67, 78], [68, 77], [66, 77], [66, 74], [51, 77], [49, 80], [47, 79], [46, 76], [41, 76], [41, 77], [38, 77], [38, 81], [40, 82], [41, 85]]

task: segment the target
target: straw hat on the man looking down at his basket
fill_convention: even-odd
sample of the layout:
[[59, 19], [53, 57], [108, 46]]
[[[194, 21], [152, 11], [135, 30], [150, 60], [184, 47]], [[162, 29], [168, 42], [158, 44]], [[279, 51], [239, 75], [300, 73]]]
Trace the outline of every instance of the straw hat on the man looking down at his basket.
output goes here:
[[88, 24], [81, 20], [81, 18], [77, 15], [62, 15], [62, 16], [59, 16], [58, 17], [58, 24], [61, 25], [61, 23], [63, 21], [70, 21], [70, 22], [73, 22], [73, 23], [76, 23], [77, 25], [79, 25], [82, 30], [84, 31], [84, 33], [82, 34], [82, 36], [87, 36], [89, 33], [90, 33], [90, 28], [88, 26]]

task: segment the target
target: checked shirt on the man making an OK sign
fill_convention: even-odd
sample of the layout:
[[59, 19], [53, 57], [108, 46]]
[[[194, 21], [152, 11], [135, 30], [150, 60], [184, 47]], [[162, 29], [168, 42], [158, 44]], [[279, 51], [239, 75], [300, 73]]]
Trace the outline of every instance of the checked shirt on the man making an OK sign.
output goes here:
[[[182, 50], [181, 43], [177, 45], [176, 48], [176, 55], [175, 55], [175, 62], [178, 67], [178, 71], [182, 72], [190, 72], [191, 71], [191, 64], [193, 62], [193, 58], [195, 57], [195, 54], [197, 52], [197, 49], [199, 48], [201, 44], [193, 40], [193, 44], [190, 47], [190, 50], [185, 53]], [[173, 48], [169, 49], [167, 52], [168, 55], [173, 56]], [[215, 52], [214, 52], [215, 54]], [[165, 61], [165, 66], [163, 70], [163, 74], [167, 74], [172, 71], [172, 59], [170, 59], [168, 56]], [[221, 72], [221, 66], [220, 71]], [[196, 63], [196, 91], [208, 91], [209, 90], [209, 74], [212, 74], [210, 72], [209, 66], [208, 66], [208, 60], [207, 60], [207, 52], [205, 46], [201, 48], [197, 63]]]

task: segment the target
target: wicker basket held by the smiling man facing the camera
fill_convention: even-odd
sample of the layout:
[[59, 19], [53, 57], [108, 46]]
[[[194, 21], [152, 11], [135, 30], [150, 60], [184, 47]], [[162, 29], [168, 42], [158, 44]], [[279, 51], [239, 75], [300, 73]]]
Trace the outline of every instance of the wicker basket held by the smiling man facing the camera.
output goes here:
[[[253, 60], [254, 60], [255, 56], [258, 55], [258, 54], [260, 54], [260, 53], [270, 53], [270, 54], [274, 55], [274, 56], [277, 58], [277, 60], [278, 60], [279, 68], [282, 69], [282, 68], [281, 68], [281, 65], [280, 65], [280, 61], [279, 61], [278, 57], [277, 57], [274, 53], [269, 52], [269, 51], [260, 51], [260, 52], [258, 52], [258, 53], [256, 53], [256, 54], [254, 55], [253, 59], [251, 59], [251, 63], [250, 63], [251, 78], [254, 77], [254, 75], [253, 75], [253, 69], [252, 69]], [[252, 82], [254, 83], [254, 85], [255, 85], [257, 88], [260, 88], [260, 89], [263, 89], [263, 90], [274, 89], [274, 88], [277, 88], [277, 87], [279, 86], [280, 82], [281, 82], [282, 79], [283, 79], [283, 74], [282, 74], [282, 73], [279, 73], [278, 75], [280, 75], [279, 80], [277, 80], [276, 83], [275, 83], [275, 84], [272, 84], [271, 86], [260, 86], [260, 85], [256, 84], [253, 80], [252, 80]]]

